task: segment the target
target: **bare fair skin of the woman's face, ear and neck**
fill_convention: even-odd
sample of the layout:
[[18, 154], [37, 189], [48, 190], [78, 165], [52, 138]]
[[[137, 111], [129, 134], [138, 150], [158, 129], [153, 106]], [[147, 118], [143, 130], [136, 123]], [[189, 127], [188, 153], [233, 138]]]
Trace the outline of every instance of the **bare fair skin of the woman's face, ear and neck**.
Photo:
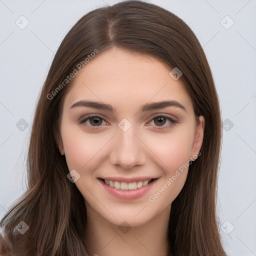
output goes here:
[[[188, 168], [153, 202], [148, 198], [182, 164], [196, 158], [204, 129], [204, 118], [199, 116], [196, 121], [191, 98], [182, 80], [169, 75], [171, 69], [152, 56], [111, 48], [83, 67], [64, 98], [57, 143], [69, 171], [75, 169], [80, 175], [74, 185], [86, 205], [85, 239], [90, 255], [168, 253], [171, 202], [183, 187]], [[87, 106], [70, 108], [79, 100], [111, 104], [116, 112]], [[185, 110], [167, 106], [139, 112], [142, 104], [162, 100], [176, 100]], [[99, 124], [93, 118], [79, 123], [79, 118], [87, 114], [103, 119]], [[162, 114], [178, 123], [154, 119]], [[126, 131], [118, 127], [123, 118], [131, 123]], [[158, 179], [146, 194], [133, 200], [109, 194], [97, 179], [145, 175]]]

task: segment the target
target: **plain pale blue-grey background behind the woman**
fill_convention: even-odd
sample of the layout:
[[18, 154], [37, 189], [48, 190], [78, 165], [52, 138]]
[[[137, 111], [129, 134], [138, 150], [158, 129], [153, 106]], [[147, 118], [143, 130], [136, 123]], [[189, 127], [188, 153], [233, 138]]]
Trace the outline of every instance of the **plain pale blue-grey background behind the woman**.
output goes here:
[[[31, 122], [54, 53], [82, 15], [116, 2], [0, 0], [0, 218], [25, 189], [24, 160]], [[222, 119], [234, 124], [229, 131], [223, 129], [217, 193], [219, 231], [228, 255], [256, 255], [256, 0], [148, 2], [182, 18], [203, 46]], [[21, 15], [29, 21], [24, 29], [15, 24]], [[220, 23], [226, 15], [234, 21], [229, 29], [222, 24], [229, 26], [231, 20], [225, 18]], [[21, 118], [29, 124], [24, 131], [16, 127]], [[221, 228], [224, 222], [227, 230], [234, 227], [229, 234]]]

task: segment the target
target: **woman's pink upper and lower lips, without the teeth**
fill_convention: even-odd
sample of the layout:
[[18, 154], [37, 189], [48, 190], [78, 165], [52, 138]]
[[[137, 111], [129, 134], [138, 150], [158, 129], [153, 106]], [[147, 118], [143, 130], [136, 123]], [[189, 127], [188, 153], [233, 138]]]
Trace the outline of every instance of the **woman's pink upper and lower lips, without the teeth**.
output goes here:
[[[108, 179], [108, 178], [107, 178]], [[109, 180], [112, 180], [112, 181], [124, 181], [124, 182], [133, 182], [133, 181], [144, 181], [144, 180], [147, 180], [147, 179], [150, 179], [149, 178], [144, 178], [144, 179], [137, 179], [137, 178], [133, 178], [133, 179], [128, 179], [128, 178], [123, 178], [123, 179], [118, 179], [118, 178], [109, 178]], [[137, 199], [139, 197], [141, 197], [142, 195], [144, 195], [147, 191], [150, 190], [150, 188], [154, 185], [154, 183], [156, 182], [156, 178], [148, 183], [147, 185], [145, 186], [142, 186], [140, 188], [137, 188], [137, 189], [134, 189], [134, 190], [121, 190], [121, 189], [117, 189], [115, 187], [111, 187], [107, 184], [105, 184], [105, 182], [101, 179], [99, 179], [99, 182], [100, 184], [106, 189], [106, 191], [108, 193], [110, 193], [111, 195], [119, 198], [119, 199], [124, 199], [124, 200], [134, 200], [134, 199]]]

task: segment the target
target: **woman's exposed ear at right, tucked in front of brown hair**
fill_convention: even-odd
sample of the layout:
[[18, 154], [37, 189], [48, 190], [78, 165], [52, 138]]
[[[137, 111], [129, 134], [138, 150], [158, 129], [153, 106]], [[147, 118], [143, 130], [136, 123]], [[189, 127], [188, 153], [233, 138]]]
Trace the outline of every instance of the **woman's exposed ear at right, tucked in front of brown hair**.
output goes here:
[[200, 115], [197, 117], [197, 124], [195, 128], [195, 134], [192, 144], [192, 150], [190, 154], [190, 160], [195, 160], [198, 156], [198, 152], [200, 151], [202, 140], [203, 140], [203, 130], [204, 130], [204, 117]]

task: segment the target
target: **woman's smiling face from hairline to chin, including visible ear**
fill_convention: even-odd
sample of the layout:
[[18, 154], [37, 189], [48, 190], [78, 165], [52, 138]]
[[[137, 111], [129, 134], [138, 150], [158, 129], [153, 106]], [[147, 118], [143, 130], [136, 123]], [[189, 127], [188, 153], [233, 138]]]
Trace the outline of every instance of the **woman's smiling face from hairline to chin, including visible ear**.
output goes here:
[[112, 48], [83, 67], [64, 98], [60, 153], [87, 210], [113, 224], [142, 225], [169, 207], [200, 149], [203, 117], [196, 121], [171, 69]]

